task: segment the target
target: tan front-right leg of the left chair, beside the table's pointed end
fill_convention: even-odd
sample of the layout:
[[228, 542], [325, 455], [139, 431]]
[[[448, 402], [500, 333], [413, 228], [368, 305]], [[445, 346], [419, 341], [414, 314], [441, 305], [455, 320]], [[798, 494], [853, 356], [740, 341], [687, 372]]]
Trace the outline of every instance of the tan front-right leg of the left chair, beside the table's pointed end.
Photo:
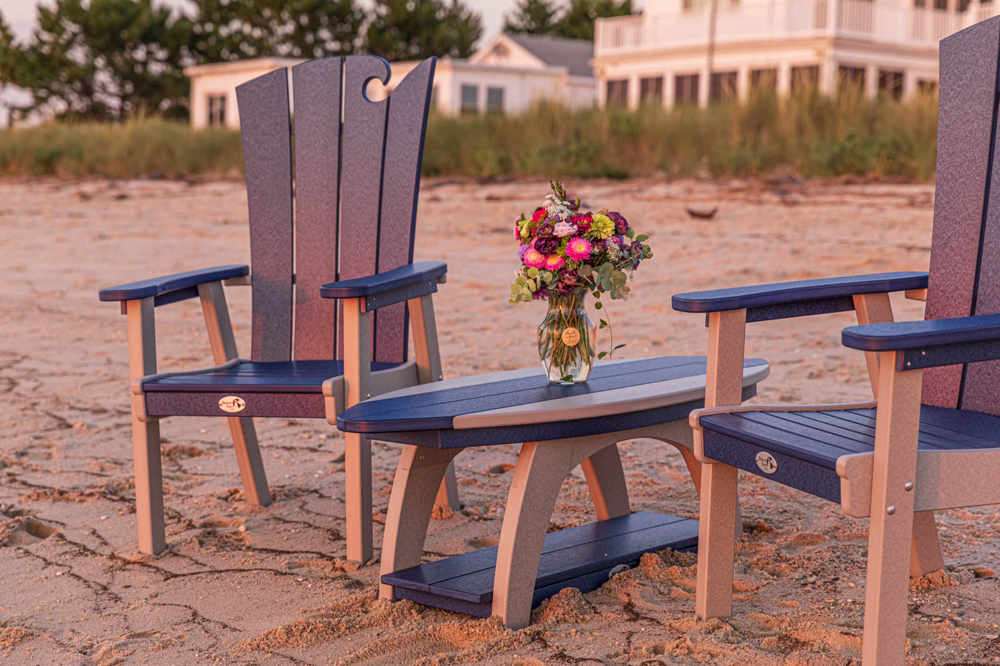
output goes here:
[[[371, 312], [362, 301], [344, 300], [345, 403], [353, 407], [371, 397]], [[347, 475], [347, 559], [372, 559], [372, 445], [360, 433], [344, 433], [344, 472]]]

